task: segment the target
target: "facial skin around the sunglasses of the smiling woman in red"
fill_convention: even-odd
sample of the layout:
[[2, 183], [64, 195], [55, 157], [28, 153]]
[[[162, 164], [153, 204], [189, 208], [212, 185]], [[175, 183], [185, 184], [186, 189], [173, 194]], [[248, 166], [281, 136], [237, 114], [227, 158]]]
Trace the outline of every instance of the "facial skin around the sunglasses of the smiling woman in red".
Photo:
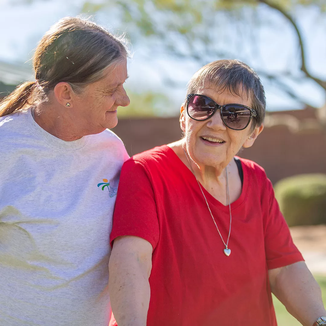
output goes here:
[[[243, 96], [236, 96], [227, 91], [219, 94], [215, 89], [206, 88], [198, 94], [212, 98], [219, 105], [237, 103], [251, 107], [251, 100], [247, 98], [245, 93]], [[185, 119], [187, 151], [199, 165], [227, 166], [250, 136], [252, 121], [244, 130], [232, 130], [224, 125], [219, 110], [205, 121], [191, 119], [185, 110], [182, 114]], [[216, 142], [209, 142], [207, 141], [208, 138], [214, 139]]]

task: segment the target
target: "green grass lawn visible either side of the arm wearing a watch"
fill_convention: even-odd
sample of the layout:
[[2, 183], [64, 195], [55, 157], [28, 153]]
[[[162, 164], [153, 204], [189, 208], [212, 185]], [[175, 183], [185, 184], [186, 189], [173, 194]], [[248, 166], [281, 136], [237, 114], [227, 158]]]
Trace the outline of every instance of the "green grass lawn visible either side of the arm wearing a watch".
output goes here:
[[[326, 305], [326, 276], [318, 276], [318, 275], [314, 275], [314, 276], [321, 287], [323, 302]], [[284, 305], [281, 304], [280, 301], [278, 301], [274, 295], [273, 295], [273, 302], [274, 302], [278, 326], [300, 326], [301, 325], [294, 317], [292, 317], [287, 312]]]

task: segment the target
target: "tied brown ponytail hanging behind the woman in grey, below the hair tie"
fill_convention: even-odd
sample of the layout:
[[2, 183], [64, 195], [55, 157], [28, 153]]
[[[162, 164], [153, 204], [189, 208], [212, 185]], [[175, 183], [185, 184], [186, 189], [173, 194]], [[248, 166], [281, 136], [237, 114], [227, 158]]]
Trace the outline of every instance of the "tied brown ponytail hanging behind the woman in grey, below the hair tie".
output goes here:
[[0, 102], [0, 118], [33, 104], [37, 93], [36, 82], [24, 82]]

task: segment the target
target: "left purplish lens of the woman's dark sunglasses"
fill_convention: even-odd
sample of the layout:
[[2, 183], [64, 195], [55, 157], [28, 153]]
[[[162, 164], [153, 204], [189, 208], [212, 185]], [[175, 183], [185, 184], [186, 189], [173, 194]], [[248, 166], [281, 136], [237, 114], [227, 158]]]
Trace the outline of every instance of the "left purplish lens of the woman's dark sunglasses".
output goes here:
[[205, 96], [193, 95], [188, 101], [188, 114], [195, 120], [205, 120], [215, 111], [215, 103]]

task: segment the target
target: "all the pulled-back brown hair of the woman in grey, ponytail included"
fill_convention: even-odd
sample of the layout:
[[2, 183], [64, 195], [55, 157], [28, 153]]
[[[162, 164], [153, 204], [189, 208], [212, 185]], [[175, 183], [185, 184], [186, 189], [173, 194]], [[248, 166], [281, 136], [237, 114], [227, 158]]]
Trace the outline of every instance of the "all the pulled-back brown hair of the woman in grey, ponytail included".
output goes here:
[[63, 18], [45, 33], [36, 48], [36, 82], [24, 82], [6, 96], [0, 102], [0, 117], [46, 100], [58, 82], [68, 82], [74, 92], [81, 92], [128, 53], [124, 37], [116, 37], [86, 19]]

